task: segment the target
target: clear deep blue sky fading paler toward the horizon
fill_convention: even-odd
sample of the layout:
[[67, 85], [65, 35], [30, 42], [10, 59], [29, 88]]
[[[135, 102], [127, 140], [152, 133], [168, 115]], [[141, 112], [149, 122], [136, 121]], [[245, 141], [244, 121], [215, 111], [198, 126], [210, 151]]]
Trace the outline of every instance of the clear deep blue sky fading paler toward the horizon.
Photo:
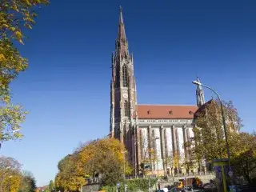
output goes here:
[[[21, 47], [29, 69], [14, 81], [14, 102], [30, 111], [21, 142], [1, 154], [33, 172], [38, 185], [79, 142], [109, 132], [111, 52], [122, 5], [139, 103], [193, 105], [200, 76], [255, 129], [256, 2], [60, 1], [39, 10]], [[206, 98], [214, 96], [205, 90]]]

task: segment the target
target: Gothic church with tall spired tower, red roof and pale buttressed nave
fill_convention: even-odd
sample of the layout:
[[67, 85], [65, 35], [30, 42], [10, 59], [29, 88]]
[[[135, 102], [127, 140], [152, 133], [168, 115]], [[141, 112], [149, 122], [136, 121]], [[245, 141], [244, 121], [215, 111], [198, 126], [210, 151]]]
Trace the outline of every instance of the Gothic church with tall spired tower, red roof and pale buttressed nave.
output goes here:
[[197, 105], [194, 106], [138, 104], [134, 58], [128, 50], [120, 7], [118, 37], [112, 54], [110, 135], [125, 144], [134, 175], [140, 174], [145, 162], [150, 164], [154, 174], [166, 174], [173, 169], [182, 171], [166, 159], [178, 154], [181, 165], [182, 159], [188, 155], [184, 143], [194, 137], [194, 113], [205, 102], [202, 87], [198, 86], [196, 93]]

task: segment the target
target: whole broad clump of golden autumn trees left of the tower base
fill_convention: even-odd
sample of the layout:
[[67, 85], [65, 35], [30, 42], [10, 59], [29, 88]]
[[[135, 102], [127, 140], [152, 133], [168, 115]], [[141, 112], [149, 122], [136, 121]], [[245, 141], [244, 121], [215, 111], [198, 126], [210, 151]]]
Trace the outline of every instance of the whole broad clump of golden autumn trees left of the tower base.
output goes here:
[[76, 191], [85, 184], [85, 178], [101, 178], [102, 185], [114, 185], [130, 174], [125, 147], [114, 138], [105, 138], [79, 146], [58, 162], [55, 185], [62, 190]]

